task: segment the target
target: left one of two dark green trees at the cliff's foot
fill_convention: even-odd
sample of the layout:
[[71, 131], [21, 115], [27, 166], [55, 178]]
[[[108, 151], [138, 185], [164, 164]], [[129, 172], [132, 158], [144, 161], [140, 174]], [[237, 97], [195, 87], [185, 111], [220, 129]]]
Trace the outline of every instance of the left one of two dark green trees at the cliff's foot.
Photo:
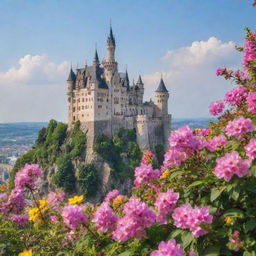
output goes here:
[[60, 155], [57, 160], [58, 171], [55, 174], [54, 180], [57, 186], [62, 187], [65, 192], [75, 191], [75, 170], [70, 159], [66, 153]]

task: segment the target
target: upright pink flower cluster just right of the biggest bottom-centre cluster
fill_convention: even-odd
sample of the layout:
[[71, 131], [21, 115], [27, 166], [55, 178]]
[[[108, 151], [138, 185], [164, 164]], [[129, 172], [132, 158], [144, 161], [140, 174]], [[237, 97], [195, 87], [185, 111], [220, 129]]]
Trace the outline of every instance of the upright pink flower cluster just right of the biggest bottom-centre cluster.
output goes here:
[[166, 224], [166, 215], [173, 211], [179, 199], [179, 193], [175, 193], [172, 189], [167, 192], [160, 193], [155, 201], [155, 208], [158, 211], [157, 222]]

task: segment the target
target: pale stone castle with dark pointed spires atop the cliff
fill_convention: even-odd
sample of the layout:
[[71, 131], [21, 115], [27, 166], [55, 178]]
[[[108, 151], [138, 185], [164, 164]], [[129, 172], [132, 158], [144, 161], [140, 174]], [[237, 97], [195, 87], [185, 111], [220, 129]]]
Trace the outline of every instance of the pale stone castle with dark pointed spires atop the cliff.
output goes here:
[[107, 38], [107, 57], [100, 63], [97, 50], [92, 66], [72, 67], [67, 79], [68, 125], [79, 120], [87, 132], [87, 147], [94, 136], [112, 136], [119, 127], [135, 129], [142, 149], [157, 144], [167, 146], [171, 126], [168, 114], [169, 93], [161, 78], [155, 91], [155, 102], [143, 102], [144, 84], [141, 76], [131, 84], [126, 72], [118, 71], [115, 60], [116, 42], [112, 27]]

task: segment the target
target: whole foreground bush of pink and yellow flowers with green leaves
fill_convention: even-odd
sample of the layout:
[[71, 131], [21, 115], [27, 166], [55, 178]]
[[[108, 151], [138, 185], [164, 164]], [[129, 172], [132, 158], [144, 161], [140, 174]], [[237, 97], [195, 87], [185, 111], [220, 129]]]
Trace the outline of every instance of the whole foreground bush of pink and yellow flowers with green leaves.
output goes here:
[[113, 190], [92, 205], [61, 191], [42, 196], [39, 166], [20, 169], [13, 190], [0, 187], [0, 253], [256, 255], [256, 33], [238, 49], [243, 70], [216, 71], [237, 84], [210, 105], [218, 121], [173, 131], [162, 166], [146, 151], [130, 197]]

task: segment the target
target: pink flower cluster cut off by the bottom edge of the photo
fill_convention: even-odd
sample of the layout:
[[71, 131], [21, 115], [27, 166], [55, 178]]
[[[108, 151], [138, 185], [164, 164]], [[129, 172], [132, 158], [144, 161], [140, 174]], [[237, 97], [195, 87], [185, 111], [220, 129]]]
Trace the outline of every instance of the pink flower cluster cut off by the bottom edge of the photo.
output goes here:
[[176, 244], [176, 241], [170, 240], [168, 242], [160, 242], [158, 250], [150, 253], [150, 256], [184, 256], [185, 252], [182, 250], [180, 244]]

